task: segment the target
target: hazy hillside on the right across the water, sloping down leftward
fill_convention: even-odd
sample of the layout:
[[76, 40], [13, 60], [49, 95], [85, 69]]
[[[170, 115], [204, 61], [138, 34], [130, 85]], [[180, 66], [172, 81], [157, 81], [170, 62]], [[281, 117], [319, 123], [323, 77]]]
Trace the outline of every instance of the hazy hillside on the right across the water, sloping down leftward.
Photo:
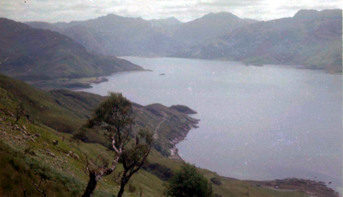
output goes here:
[[177, 57], [229, 59], [342, 71], [342, 10], [300, 10], [292, 18], [257, 22], [209, 39]]

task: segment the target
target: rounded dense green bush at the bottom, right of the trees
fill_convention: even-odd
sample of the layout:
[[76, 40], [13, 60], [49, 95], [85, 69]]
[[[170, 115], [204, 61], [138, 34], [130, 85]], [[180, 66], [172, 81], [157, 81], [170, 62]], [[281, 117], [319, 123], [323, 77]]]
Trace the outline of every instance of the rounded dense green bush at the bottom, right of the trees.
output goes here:
[[213, 197], [212, 185], [191, 164], [184, 164], [168, 181], [165, 194], [174, 197]]

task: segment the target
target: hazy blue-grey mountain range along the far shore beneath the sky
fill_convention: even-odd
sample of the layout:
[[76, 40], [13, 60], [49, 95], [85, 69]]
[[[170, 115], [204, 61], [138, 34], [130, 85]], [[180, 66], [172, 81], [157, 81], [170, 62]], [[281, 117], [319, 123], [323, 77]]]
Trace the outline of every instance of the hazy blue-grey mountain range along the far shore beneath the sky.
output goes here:
[[226, 59], [342, 70], [342, 10], [300, 10], [271, 21], [209, 13], [182, 23], [114, 14], [70, 23], [27, 22], [65, 34], [88, 50], [113, 56]]

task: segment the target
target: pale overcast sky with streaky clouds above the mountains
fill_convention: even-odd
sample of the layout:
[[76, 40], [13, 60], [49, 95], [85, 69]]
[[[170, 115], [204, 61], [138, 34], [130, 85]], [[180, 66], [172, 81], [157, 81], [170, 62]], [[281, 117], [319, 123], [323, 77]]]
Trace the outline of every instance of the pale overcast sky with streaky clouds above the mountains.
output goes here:
[[342, 0], [0, 0], [0, 17], [21, 22], [80, 21], [109, 13], [147, 20], [174, 16], [187, 22], [210, 12], [272, 20], [300, 9], [342, 9]]

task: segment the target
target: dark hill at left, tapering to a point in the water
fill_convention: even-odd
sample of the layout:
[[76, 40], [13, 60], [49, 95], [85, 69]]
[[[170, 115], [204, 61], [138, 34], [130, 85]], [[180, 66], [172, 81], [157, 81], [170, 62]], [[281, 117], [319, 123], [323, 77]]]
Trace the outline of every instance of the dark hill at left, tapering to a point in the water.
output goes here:
[[0, 19], [0, 72], [26, 80], [102, 76], [140, 66], [87, 52], [75, 40], [23, 23]]

